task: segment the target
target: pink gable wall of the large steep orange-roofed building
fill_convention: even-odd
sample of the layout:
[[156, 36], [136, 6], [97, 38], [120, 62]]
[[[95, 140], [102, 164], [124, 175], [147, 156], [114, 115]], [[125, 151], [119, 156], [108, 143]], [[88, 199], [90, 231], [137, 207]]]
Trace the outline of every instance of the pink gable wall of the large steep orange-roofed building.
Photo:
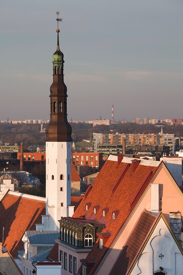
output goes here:
[[[159, 197], [162, 196], [162, 213], [169, 222], [169, 213], [174, 211], [182, 211], [183, 214], [183, 194], [179, 187], [173, 183], [173, 178], [167, 171], [164, 164], [160, 167], [159, 172], [154, 177], [151, 183], [159, 184]], [[133, 184], [133, 183], [132, 183]], [[123, 227], [123, 231], [118, 235], [118, 239], [113, 244], [112, 250], [109, 252], [107, 258], [102, 263], [102, 266], [95, 274], [103, 275], [109, 274], [115, 261], [117, 260], [121, 250], [125, 246], [129, 236], [131, 235], [138, 218], [143, 210], [151, 212], [151, 184], [146, 189], [140, 202], [134, 209], [129, 221]]]

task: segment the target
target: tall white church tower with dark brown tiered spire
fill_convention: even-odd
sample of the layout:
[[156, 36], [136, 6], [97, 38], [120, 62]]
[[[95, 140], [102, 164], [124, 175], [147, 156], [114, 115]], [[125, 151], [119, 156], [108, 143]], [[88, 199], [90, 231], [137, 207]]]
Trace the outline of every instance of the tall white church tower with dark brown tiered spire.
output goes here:
[[[67, 87], [63, 81], [63, 53], [53, 54], [53, 83], [50, 87], [50, 122], [46, 126], [46, 216], [47, 230], [58, 230], [61, 217], [72, 216], [71, 204], [71, 133], [67, 121]], [[47, 222], [46, 222], [47, 221]], [[47, 226], [46, 226], [47, 223]]]

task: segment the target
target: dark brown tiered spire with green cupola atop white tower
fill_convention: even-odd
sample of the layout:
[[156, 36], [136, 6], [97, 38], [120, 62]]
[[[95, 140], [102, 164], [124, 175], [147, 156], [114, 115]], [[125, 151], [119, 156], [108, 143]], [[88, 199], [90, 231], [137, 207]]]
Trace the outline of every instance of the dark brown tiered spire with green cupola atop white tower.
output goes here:
[[[57, 13], [57, 17], [59, 12]], [[57, 22], [62, 19], [57, 18]], [[57, 28], [57, 49], [53, 54], [53, 83], [50, 87], [50, 122], [46, 126], [45, 141], [72, 141], [72, 129], [67, 121], [67, 87], [63, 80], [63, 53], [59, 47]]]

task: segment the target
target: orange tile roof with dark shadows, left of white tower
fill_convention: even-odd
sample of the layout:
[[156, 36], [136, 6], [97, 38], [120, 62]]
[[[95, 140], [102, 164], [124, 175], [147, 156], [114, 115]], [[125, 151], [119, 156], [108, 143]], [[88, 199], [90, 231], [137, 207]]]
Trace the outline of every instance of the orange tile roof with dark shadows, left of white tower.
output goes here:
[[22, 237], [26, 230], [36, 230], [35, 224], [41, 223], [45, 215], [46, 202], [7, 194], [0, 202], [0, 240], [4, 230], [4, 247], [13, 258], [18, 250], [24, 249]]

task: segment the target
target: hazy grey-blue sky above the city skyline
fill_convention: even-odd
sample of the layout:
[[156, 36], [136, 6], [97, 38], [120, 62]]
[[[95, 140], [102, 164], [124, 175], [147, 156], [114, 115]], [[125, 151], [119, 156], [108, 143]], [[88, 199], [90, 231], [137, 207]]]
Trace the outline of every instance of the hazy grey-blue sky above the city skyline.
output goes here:
[[6, 0], [0, 120], [49, 119], [57, 10], [68, 120], [183, 118], [182, 0]]

